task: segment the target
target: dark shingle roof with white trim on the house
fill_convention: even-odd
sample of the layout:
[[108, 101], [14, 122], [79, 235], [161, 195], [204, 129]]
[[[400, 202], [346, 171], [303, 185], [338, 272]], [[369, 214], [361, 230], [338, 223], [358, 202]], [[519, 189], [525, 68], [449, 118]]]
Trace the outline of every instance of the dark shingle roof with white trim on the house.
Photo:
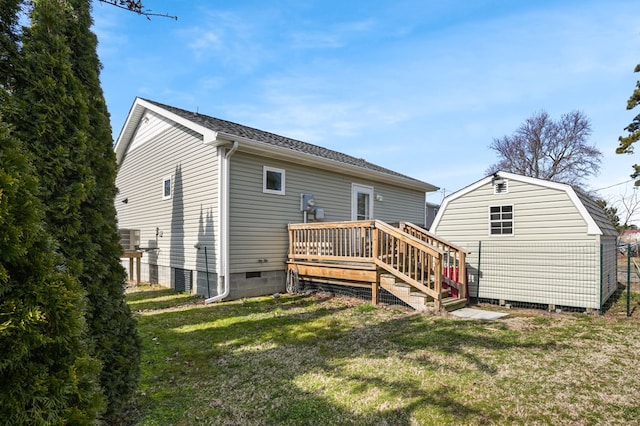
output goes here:
[[362, 158], [142, 98], [136, 98], [134, 101], [116, 141], [115, 150], [118, 163], [124, 158], [128, 146], [135, 136], [138, 123], [147, 109], [201, 134], [203, 142], [207, 144], [224, 145], [235, 140], [240, 142], [241, 149], [244, 147], [245, 150], [254, 153], [270, 153], [278, 158], [283, 158], [284, 155], [284, 158], [289, 157], [295, 161], [302, 160], [304, 162], [306, 160], [309, 165], [322, 164], [329, 169], [345, 174], [390, 181], [396, 185], [425, 192], [439, 189], [429, 183], [369, 163]]

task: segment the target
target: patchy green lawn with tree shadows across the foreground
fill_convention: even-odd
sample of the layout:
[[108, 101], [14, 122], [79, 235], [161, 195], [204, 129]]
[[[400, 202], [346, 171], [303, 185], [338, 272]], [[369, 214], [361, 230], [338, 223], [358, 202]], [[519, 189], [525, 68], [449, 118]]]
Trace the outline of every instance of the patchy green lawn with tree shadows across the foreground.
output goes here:
[[141, 286], [127, 300], [143, 339], [133, 424], [640, 422], [626, 308], [480, 322], [323, 295], [204, 305]]

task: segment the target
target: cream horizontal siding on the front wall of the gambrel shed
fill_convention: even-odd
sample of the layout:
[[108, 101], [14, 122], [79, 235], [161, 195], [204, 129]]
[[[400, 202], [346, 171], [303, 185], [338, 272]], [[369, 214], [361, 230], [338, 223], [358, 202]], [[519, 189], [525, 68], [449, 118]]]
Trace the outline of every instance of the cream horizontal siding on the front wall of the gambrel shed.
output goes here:
[[[471, 252], [470, 294], [599, 308], [600, 237], [587, 235], [587, 223], [569, 196], [514, 180], [509, 180], [508, 188], [508, 193], [494, 194], [488, 182], [451, 200], [433, 229]], [[514, 206], [514, 235], [489, 235], [489, 206], [499, 205]]]

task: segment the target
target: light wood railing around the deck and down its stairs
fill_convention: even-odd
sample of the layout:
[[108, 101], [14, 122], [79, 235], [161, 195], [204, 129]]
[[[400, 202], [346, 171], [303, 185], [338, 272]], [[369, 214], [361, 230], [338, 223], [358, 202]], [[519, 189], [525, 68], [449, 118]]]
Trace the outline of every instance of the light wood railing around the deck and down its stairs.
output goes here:
[[369, 263], [440, 301], [443, 283], [466, 297], [464, 250], [410, 223], [379, 220], [289, 225], [289, 261]]

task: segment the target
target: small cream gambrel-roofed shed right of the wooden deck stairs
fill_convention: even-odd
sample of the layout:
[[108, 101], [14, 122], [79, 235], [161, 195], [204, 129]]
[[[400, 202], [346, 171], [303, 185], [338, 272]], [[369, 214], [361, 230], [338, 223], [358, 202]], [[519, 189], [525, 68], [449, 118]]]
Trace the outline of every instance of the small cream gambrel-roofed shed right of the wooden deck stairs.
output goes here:
[[471, 297], [600, 309], [617, 288], [618, 234], [570, 185], [497, 172], [446, 197], [431, 232], [470, 252]]

